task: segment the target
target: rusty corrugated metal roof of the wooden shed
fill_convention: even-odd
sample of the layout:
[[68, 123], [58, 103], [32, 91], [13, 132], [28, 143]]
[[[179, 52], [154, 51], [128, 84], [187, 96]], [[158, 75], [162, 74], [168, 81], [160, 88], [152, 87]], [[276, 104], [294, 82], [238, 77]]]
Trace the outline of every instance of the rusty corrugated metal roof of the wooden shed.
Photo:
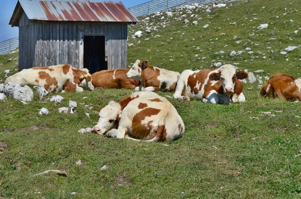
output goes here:
[[[20, 4], [18, 4], [20, 3]], [[93, 0], [19, 0], [30, 20], [84, 22], [138, 22], [121, 2]], [[11, 19], [13, 24], [15, 19]]]

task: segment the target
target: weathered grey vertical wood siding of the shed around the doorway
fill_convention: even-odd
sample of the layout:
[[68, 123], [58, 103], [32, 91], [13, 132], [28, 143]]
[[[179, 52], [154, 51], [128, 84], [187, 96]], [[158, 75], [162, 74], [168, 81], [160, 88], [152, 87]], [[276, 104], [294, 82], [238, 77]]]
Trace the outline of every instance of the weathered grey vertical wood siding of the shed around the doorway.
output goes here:
[[127, 24], [19, 21], [19, 70], [71, 64], [83, 68], [84, 36], [105, 36], [108, 69], [127, 68]]

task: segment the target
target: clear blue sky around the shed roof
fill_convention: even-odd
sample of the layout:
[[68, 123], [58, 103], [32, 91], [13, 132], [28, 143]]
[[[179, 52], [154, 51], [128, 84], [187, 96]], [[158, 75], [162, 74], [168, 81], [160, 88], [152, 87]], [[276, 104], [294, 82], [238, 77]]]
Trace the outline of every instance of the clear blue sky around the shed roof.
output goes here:
[[[120, 0], [126, 8], [130, 8], [150, 0]], [[0, 42], [19, 37], [19, 28], [12, 28], [9, 23], [18, 0], [0, 0]]]

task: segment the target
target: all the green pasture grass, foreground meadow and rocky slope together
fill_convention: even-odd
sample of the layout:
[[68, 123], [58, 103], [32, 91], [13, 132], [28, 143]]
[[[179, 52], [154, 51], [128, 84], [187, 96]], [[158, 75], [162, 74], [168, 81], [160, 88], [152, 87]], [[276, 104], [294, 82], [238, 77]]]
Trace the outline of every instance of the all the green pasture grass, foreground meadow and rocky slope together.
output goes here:
[[[152, 15], [147, 24], [130, 26], [129, 36], [139, 30], [145, 34], [129, 39], [134, 45], [128, 47], [128, 65], [148, 59], [150, 65], [182, 72], [221, 62], [235, 63], [241, 70], [262, 69], [258, 77], [263, 81], [277, 72], [300, 76], [300, 47], [280, 54], [301, 43], [299, 1], [227, 5], [210, 6], [210, 13], [208, 8], [173, 10], [173, 17], [164, 12], [162, 20], [162, 15]], [[266, 23], [268, 28], [257, 29]], [[203, 28], [206, 24], [209, 27]], [[146, 32], [154, 26], [158, 31]], [[240, 50], [244, 52], [230, 56]], [[216, 54], [220, 51], [225, 53]], [[16, 72], [16, 62], [6, 63], [16, 56], [0, 56], [0, 83], [5, 69]], [[244, 84], [247, 101], [242, 104], [168, 98], [186, 131], [167, 145], [77, 132], [92, 127], [109, 100], [131, 90], [62, 93], [65, 99], [57, 105], [39, 101], [37, 95], [28, 105], [8, 98], [0, 102], [0, 140], [9, 145], [8, 151], [0, 152], [0, 198], [300, 198], [300, 103], [260, 98], [258, 85]], [[77, 102], [76, 113], [58, 113], [69, 100]], [[39, 114], [42, 107], [49, 115]], [[81, 165], [76, 164], [79, 159]], [[104, 165], [109, 167], [102, 170]], [[33, 176], [49, 169], [65, 170], [67, 176]]]

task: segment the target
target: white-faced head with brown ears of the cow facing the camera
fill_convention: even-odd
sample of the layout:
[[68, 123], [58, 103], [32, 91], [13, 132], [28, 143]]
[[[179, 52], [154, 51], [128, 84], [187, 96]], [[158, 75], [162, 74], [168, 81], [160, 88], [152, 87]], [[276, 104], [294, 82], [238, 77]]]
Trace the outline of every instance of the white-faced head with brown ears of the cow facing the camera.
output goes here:
[[226, 64], [219, 68], [218, 73], [212, 73], [209, 76], [209, 79], [213, 81], [222, 81], [222, 87], [224, 93], [231, 95], [234, 92], [234, 86], [236, 79], [242, 80], [248, 77], [248, 74], [244, 71], [237, 72], [235, 67]]

